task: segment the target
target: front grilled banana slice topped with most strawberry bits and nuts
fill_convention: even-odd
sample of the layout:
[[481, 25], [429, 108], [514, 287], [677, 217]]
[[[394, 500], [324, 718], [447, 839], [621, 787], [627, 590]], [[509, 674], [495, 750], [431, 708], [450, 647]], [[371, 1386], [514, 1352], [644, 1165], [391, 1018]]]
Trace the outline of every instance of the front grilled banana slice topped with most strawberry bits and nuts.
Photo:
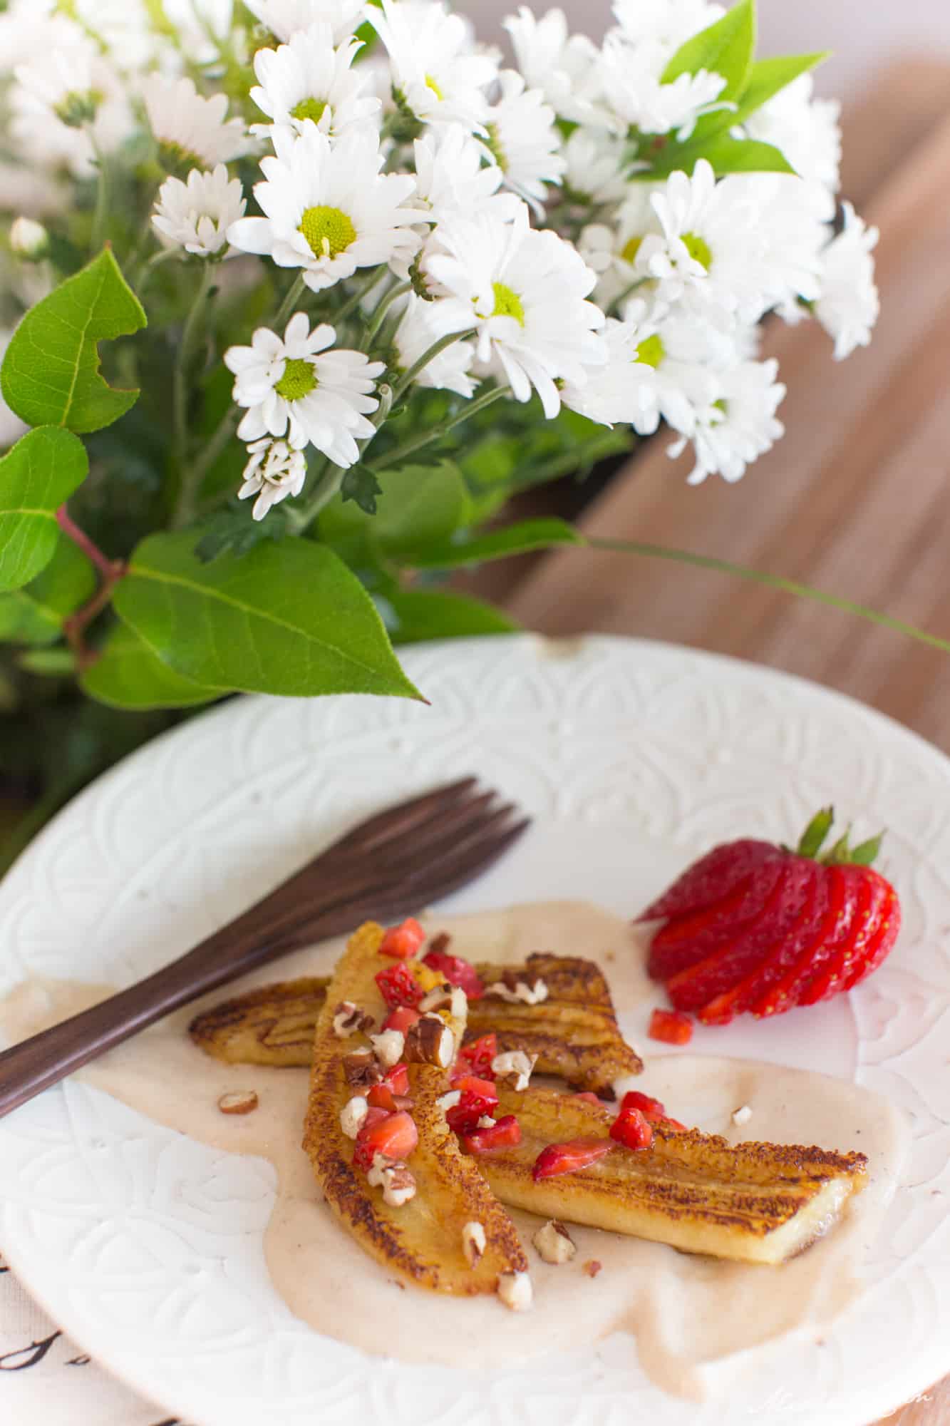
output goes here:
[[[304, 1149], [330, 1208], [378, 1262], [435, 1292], [499, 1292], [509, 1305], [525, 1306], [528, 1259], [515, 1226], [445, 1122], [439, 1098], [448, 1091], [446, 1068], [409, 1064], [408, 1112], [418, 1147], [408, 1169], [415, 1195], [394, 1206], [354, 1165], [354, 1139], [344, 1132], [341, 1111], [359, 1098], [352, 1057], [362, 1055], [369, 1041], [358, 1028], [347, 1032], [341, 1021], [347, 1020], [345, 1005], [372, 1015], [377, 1025], [387, 1015], [374, 980], [377, 971], [394, 964], [378, 955], [382, 935], [381, 925], [362, 925], [330, 983], [314, 1038]], [[415, 974], [424, 987], [441, 980], [428, 967], [418, 967]], [[464, 1015], [455, 1007], [438, 1015], [458, 1044]]]

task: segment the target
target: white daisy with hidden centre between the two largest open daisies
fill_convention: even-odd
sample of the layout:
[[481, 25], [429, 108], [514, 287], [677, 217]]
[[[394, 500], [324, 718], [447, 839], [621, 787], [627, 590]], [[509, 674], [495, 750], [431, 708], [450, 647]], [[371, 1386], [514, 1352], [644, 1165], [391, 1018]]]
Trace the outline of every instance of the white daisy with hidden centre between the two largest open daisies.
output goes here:
[[515, 194], [498, 193], [502, 170], [484, 163], [484, 147], [461, 124], [441, 124], [417, 138], [414, 150], [418, 195], [435, 222], [475, 212], [511, 222], [521, 211]]

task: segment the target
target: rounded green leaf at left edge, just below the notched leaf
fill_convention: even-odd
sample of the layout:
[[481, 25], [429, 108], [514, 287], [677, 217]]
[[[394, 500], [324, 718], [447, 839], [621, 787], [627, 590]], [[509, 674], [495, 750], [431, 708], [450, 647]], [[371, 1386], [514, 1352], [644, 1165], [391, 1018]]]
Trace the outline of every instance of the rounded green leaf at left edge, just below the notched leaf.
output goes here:
[[0, 459], [0, 590], [21, 589], [53, 559], [56, 512], [88, 475], [86, 446], [40, 426]]

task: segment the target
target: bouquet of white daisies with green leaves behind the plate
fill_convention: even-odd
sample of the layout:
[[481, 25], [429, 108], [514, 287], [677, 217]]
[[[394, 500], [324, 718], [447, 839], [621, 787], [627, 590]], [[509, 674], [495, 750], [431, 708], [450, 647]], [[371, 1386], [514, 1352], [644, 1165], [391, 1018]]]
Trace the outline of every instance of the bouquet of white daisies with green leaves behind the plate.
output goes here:
[[870, 338], [822, 56], [757, 60], [755, 0], [522, 7], [505, 54], [444, 0], [0, 11], [14, 703], [412, 694], [392, 643], [511, 627], [439, 576], [578, 538], [512, 491], [662, 424], [736, 481], [763, 318]]

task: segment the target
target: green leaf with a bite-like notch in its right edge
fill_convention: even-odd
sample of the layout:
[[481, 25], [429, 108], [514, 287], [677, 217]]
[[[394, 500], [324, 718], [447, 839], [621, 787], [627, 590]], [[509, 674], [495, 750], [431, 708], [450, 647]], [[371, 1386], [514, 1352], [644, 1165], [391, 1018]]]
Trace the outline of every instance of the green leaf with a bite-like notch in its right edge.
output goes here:
[[31, 426], [87, 434], [110, 426], [138, 401], [100, 375], [98, 342], [145, 327], [141, 302], [111, 248], [31, 308], [17, 327], [0, 372], [7, 405]]

